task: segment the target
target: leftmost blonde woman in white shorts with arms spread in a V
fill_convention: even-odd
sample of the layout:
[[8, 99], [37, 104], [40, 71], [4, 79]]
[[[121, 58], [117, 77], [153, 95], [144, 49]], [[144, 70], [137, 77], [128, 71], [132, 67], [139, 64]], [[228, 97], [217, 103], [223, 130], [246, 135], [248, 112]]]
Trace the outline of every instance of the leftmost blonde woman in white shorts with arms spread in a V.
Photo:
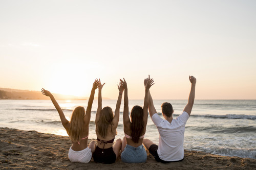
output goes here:
[[62, 126], [66, 129], [72, 141], [72, 145], [69, 149], [69, 160], [71, 162], [88, 163], [92, 159], [95, 142], [90, 142], [89, 147], [87, 146], [87, 142], [94, 93], [98, 87], [98, 84], [98, 80], [95, 80], [88, 101], [87, 110], [85, 111], [84, 107], [81, 106], [76, 107], [73, 110], [70, 122], [66, 119], [63, 111], [59, 107], [57, 101], [54, 99], [54, 96], [51, 94], [51, 92], [45, 90], [44, 88], [41, 89], [42, 94], [50, 97], [53, 105], [59, 113]]

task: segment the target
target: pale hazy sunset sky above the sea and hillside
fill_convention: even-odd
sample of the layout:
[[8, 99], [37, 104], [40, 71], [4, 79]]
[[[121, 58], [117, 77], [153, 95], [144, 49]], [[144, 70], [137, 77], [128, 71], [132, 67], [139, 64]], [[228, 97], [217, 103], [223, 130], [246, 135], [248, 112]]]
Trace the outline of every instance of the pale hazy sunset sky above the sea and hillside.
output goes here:
[[[0, 87], [117, 99], [256, 99], [256, 1], [0, 0]], [[96, 92], [96, 95], [98, 93]]]

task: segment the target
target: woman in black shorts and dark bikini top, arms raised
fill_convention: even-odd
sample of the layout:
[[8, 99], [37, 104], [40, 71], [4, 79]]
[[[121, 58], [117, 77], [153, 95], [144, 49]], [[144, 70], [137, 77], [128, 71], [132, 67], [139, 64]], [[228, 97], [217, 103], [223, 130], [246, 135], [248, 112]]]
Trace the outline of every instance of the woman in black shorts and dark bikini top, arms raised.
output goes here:
[[122, 143], [121, 139], [117, 139], [113, 145], [117, 134], [116, 129], [119, 122], [119, 110], [122, 100], [123, 85], [121, 82], [119, 83], [119, 86], [117, 85], [119, 94], [114, 116], [110, 107], [107, 106], [102, 109], [101, 89], [104, 84], [101, 85], [99, 79], [98, 109], [95, 118], [97, 147], [93, 154], [93, 159], [95, 162], [110, 164], [116, 161]]

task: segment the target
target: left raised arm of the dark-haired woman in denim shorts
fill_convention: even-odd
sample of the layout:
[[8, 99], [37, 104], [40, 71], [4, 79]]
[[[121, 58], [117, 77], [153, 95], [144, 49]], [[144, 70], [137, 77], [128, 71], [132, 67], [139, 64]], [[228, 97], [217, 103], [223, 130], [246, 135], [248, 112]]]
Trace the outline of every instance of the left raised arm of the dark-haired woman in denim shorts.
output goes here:
[[125, 80], [122, 83], [123, 83], [123, 88], [124, 88], [123, 128], [126, 129], [126, 128], [130, 128], [131, 122], [130, 122], [130, 118], [129, 118], [129, 101], [128, 101], [127, 83]]

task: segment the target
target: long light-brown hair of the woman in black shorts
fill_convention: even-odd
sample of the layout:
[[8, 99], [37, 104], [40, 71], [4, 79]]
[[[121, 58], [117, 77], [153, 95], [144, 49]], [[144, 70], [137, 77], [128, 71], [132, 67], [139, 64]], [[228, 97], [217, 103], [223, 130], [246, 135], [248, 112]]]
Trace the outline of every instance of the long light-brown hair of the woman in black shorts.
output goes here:
[[109, 125], [111, 125], [112, 132], [112, 120], [114, 118], [113, 111], [110, 107], [106, 106], [100, 111], [99, 122], [98, 122], [98, 133], [103, 138], [106, 136], [106, 131]]

